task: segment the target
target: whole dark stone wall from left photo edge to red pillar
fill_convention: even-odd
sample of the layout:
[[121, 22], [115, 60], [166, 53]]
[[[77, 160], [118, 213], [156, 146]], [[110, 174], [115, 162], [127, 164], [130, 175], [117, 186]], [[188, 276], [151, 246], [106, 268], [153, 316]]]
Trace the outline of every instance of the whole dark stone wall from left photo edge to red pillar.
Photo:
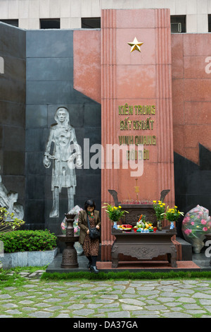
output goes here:
[[[101, 143], [101, 105], [73, 88], [73, 31], [21, 30], [0, 23], [0, 174], [6, 189], [18, 192], [25, 228], [60, 234], [68, 212], [67, 189], [60, 193], [60, 216], [49, 218], [52, 166], [43, 165], [54, 115], [67, 107], [84, 158], [84, 138]], [[91, 155], [94, 153], [90, 153]], [[76, 170], [75, 205], [94, 198], [101, 209], [101, 170]]]

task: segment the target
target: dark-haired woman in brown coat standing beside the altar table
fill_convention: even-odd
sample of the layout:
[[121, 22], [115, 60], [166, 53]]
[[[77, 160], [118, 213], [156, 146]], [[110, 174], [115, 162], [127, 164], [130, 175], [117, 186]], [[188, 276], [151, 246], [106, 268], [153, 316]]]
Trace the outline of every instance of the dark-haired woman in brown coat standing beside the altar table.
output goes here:
[[96, 227], [98, 230], [101, 227], [101, 218], [99, 211], [95, 210], [96, 205], [91, 199], [84, 203], [84, 211], [79, 212], [78, 225], [80, 227], [79, 243], [82, 244], [84, 254], [89, 259], [88, 268], [94, 273], [98, 273], [96, 269], [96, 260], [99, 251], [100, 238], [90, 239], [89, 227], [87, 224], [87, 215], [89, 218], [90, 228]]

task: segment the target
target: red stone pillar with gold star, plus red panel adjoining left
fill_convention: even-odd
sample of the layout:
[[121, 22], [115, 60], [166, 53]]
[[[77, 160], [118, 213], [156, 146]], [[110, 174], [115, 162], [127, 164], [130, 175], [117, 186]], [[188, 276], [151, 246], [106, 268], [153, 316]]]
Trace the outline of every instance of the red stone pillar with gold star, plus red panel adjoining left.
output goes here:
[[[74, 87], [101, 102], [102, 205], [114, 203], [108, 189], [122, 202], [136, 199], [139, 186], [139, 199], [146, 200], [158, 200], [170, 189], [165, 203], [174, 206], [170, 33], [169, 9], [103, 10], [101, 31], [74, 32]], [[108, 158], [108, 145], [114, 144], [123, 148], [120, 167], [119, 151]], [[101, 259], [107, 261], [113, 236], [103, 210], [101, 218]]]

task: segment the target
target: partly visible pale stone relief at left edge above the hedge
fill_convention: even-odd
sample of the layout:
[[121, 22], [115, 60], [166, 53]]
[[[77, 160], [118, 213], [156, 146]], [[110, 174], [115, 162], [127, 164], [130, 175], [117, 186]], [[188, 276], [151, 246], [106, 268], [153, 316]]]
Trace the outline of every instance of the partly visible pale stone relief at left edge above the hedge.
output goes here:
[[0, 206], [6, 208], [9, 213], [14, 213], [14, 218], [23, 220], [23, 206], [20, 203], [17, 203], [17, 201], [18, 193], [16, 193], [15, 191], [8, 191], [2, 183], [0, 175]]

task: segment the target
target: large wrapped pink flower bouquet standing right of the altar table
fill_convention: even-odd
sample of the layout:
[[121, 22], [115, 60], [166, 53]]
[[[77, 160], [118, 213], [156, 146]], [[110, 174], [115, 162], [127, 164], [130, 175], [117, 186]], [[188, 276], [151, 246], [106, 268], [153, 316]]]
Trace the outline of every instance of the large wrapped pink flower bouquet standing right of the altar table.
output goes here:
[[211, 230], [209, 211], [203, 206], [196, 206], [186, 213], [181, 231], [184, 239], [192, 244], [193, 251], [199, 253], [204, 247], [205, 234]]

